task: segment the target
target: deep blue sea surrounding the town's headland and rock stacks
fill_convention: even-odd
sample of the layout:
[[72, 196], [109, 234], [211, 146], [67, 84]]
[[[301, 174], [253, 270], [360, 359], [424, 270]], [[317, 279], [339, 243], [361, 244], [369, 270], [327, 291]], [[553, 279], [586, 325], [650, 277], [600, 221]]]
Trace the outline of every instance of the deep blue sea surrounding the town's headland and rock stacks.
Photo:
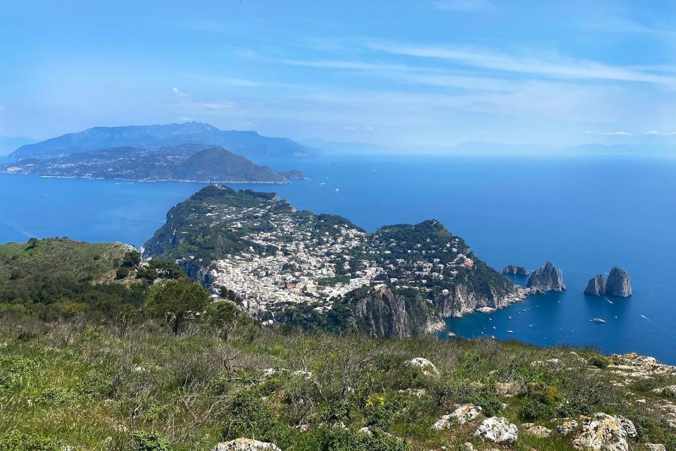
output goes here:
[[[676, 159], [323, 156], [263, 163], [300, 168], [311, 180], [235, 187], [275, 191], [300, 209], [341, 214], [367, 230], [437, 218], [499, 271], [547, 260], [563, 269], [565, 293], [449, 320], [460, 336], [595, 345], [676, 364]], [[0, 175], [0, 242], [68, 236], [139, 246], [170, 206], [201, 186]], [[613, 265], [627, 268], [634, 295], [585, 297], [587, 280]]]

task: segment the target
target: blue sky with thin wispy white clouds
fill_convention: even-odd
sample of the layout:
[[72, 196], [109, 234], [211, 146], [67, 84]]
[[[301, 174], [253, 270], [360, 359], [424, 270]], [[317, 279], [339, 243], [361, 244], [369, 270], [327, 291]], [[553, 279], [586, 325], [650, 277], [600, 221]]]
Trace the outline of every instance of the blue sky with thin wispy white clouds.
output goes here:
[[0, 0], [0, 135], [676, 143], [676, 2]]

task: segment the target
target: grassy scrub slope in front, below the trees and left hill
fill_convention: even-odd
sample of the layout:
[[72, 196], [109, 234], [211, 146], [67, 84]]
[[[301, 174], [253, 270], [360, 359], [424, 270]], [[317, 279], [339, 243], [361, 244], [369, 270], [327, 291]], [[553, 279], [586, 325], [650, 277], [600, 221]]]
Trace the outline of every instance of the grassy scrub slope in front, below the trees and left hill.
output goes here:
[[[586, 356], [580, 359], [568, 347], [284, 335], [255, 323], [228, 326], [227, 339], [224, 332], [206, 324], [173, 337], [154, 323], [124, 330], [84, 321], [0, 323], [0, 445], [23, 434], [23, 440], [55, 440], [73, 450], [136, 451], [151, 449], [139, 437], [159, 437], [168, 449], [187, 451], [244, 435], [283, 450], [460, 449], [467, 441], [488, 450], [495, 445], [472, 437], [476, 422], [444, 431], [431, 425], [465, 402], [484, 412], [498, 409], [520, 425], [526, 404], [535, 396], [557, 404], [556, 393], [586, 400], [592, 413], [627, 416], [640, 429], [639, 441], [663, 443], [670, 434], [658, 413], [627, 397], [633, 387], [613, 386], [612, 366], [588, 362], [597, 356], [592, 350], [575, 350]], [[441, 377], [407, 366], [413, 357], [430, 359]], [[562, 363], [533, 363], [554, 358]], [[519, 393], [497, 395], [495, 383], [504, 382]], [[673, 383], [666, 376], [655, 381]], [[644, 383], [639, 395], [651, 388]], [[553, 428], [549, 420], [534, 422]], [[341, 423], [346, 430], [334, 427]], [[357, 432], [363, 426], [373, 437]], [[573, 449], [570, 438], [534, 438], [521, 430], [512, 449], [532, 448]]]

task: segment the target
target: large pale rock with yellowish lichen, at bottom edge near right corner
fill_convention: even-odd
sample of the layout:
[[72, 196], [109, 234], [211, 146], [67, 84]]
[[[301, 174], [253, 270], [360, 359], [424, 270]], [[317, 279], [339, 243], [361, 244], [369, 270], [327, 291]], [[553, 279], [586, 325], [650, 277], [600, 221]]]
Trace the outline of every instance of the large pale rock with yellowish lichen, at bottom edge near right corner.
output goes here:
[[578, 450], [629, 451], [627, 444], [629, 434], [623, 421], [626, 419], [597, 413], [593, 417], [582, 416], [581, 420], [582, 431], [572, 440], [572, 445]]

